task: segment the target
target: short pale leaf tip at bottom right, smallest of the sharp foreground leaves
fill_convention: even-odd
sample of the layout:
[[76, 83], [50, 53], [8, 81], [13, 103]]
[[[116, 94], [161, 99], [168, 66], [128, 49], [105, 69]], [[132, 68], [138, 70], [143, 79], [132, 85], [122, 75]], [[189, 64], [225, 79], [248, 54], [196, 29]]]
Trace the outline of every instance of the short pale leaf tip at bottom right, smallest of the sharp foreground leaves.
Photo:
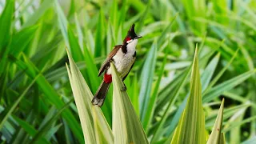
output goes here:
[[223, 110], [224, 110], [224, 99], [222, 99], [222, 104], [218, 110], [218, 116], [216, 118], [214, 128], [210, 134], [210, 138], [207, 141], [207, 144], [219, 144], [222, 143], [222, 119], [223, 119]]

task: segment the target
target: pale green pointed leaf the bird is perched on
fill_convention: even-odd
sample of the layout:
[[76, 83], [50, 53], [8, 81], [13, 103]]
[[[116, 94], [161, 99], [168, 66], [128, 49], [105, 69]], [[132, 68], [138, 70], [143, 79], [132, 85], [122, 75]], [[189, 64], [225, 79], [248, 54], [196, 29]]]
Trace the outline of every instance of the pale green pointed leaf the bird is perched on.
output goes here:
[[114, 84], [113, 95], [113, 133], [114, 143], [149, 143], [142, 124], [126, 91], [121, 91], [123, 83], [111, 63]]

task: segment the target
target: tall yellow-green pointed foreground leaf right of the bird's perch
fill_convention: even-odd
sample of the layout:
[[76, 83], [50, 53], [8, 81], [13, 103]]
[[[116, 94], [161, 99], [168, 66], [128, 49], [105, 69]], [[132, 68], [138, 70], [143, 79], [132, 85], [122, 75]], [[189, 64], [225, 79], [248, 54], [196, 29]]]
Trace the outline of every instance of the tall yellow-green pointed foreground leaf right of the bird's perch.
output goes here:
[[198, 67], [198, 48], [192, 66], [190, 97], [171, 143], [206, 143], [205, 116], [202, 109], [202, 87]]

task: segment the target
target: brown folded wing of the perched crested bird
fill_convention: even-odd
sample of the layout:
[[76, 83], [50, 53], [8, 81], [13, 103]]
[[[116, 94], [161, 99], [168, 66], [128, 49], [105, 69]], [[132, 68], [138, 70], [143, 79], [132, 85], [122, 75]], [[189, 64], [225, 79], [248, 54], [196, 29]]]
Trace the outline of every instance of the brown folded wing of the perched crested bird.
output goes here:
[[106, 66], [110, 65], [111, 58], [114, 57], [115, 54], [117, 54], [118, 50], [122, 48], [122, 45], [114, 46], [114, 49], [110, 52], [110, 54], [107, 56], [105, 61], [102, 63], [101, 68], [98, 70], [98, 76], [100, 76], [104, 70], [106, 70]]

